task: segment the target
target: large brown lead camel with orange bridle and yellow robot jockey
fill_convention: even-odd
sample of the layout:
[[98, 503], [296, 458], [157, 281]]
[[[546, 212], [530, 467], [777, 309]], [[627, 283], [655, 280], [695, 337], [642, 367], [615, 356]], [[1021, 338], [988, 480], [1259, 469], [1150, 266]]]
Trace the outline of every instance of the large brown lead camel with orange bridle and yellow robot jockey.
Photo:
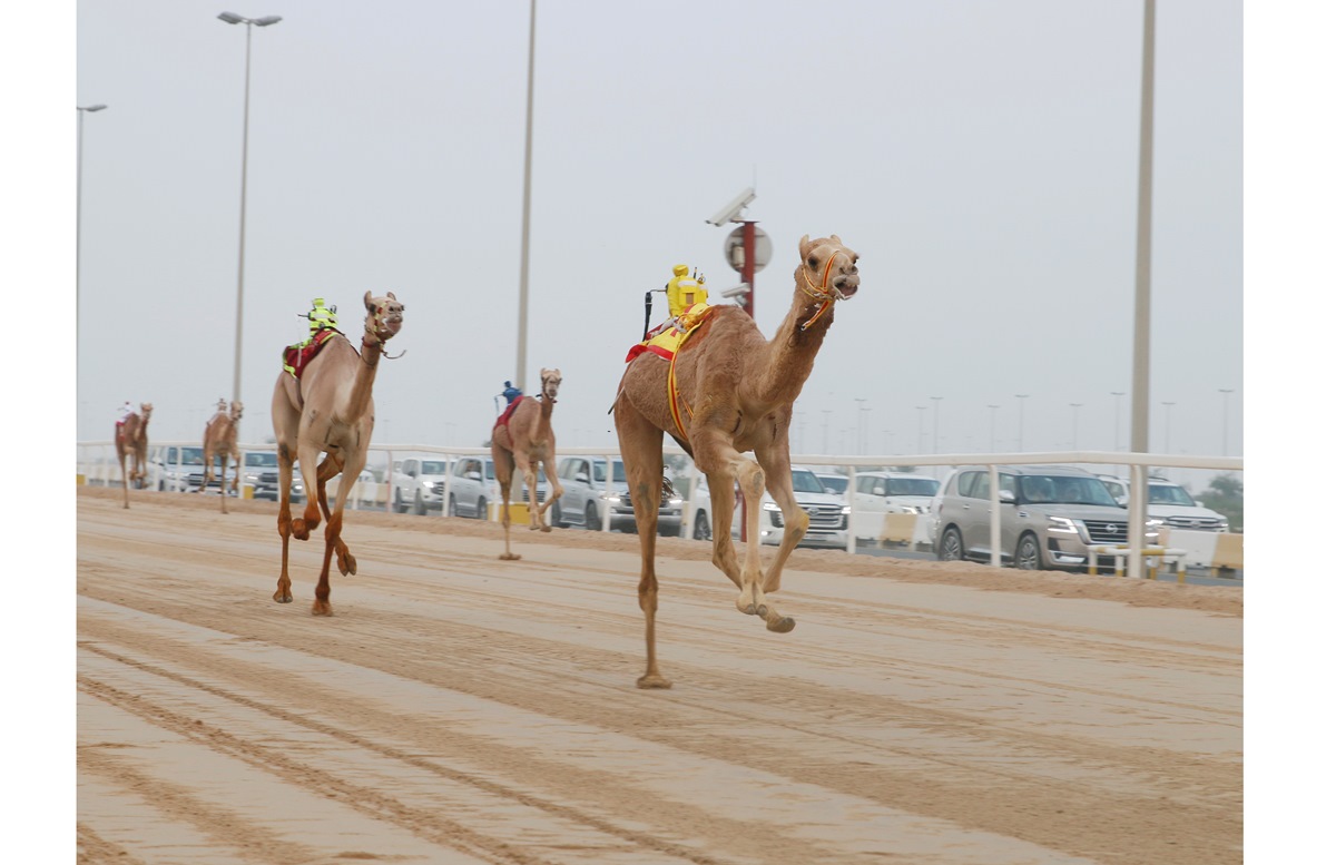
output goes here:
[[[807, 513], [794, 501], [788, 426], [794, 400], [834, 320], [834, 302], [852, 296], [859, 284], [858, 255], [836, 235], [816, 240], [804, 235], [798, 250], [802, 262], [794, 271], [792, 304], [772, 340], [766, 340], [740, 307], [720, 306], [679, 347], [673, 362], [644, 352], [623, 375], [613, 414], [640, 533], [640, 609], [645, 614], [648, 655], [645, 674], [636, 682], [640, 687], [672, 687], [659, 674], [655, 658], [655, 534], [664, 432], [705, 474], [713, 513], [713, 562], [737, 586], [737, 609], [762, 617], [772, 631], [794, 629], [794, 619], [782, 615], [768, 597], [779, 591], [784, 562], [808, 523]], [[676, 390], [675, 407], [669, 404], [671, 387]], [[756, 459], [743, 457], [744, 451], [752, 451]], [[740, 567], [731, 533], [735, 482], [745, 509], [745, 557]], [[775, 561], [762, 574], [764, 490], [779, 506], [786, 531]]]

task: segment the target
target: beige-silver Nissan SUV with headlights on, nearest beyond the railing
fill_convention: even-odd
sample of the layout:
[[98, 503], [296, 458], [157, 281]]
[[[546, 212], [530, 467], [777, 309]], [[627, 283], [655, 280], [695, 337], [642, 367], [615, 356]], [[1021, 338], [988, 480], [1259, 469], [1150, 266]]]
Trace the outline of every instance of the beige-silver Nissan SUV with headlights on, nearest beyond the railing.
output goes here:
[[[1070, 466], [999, 466], [998, 498], [1002, 561], [1019, 569], [1089, 566], [1090, 547], [1128, 542], [1128, 511], [1096, 475]], [[991, 490], [983, 466], [958, 469], [934, 497], [934, 547], [943, 561], [989, 561]], [[1145, 543], [1158, 538], [1158, 521], [1144, 527]], [[1100, 557], [1113, 567], [1113, 557]]]

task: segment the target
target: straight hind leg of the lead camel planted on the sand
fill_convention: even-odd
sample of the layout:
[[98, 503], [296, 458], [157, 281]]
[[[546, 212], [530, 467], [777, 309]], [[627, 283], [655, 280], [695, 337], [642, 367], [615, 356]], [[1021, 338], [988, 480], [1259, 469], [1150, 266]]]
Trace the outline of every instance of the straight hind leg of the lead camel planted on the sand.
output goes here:
[[[655, 650], [655, 617], [659, 613], [659, 578], [655, 575], [655, 539], [659, 537], [659, 486], [663, 474], [663, 431], [645, 420], [629, 402], [615, 403], [613, 419], [621, 462], [627, 467], [627, 486], [632, 490], [631, 505], [636, 513], [636, 534], [640, 535], [640, 611], [645, 614], [645, 674], [636, 679], [636, 687], [672, 687], [672, 682], [659, 673]], [[727, 535], [725, 535], [727, 537]]]

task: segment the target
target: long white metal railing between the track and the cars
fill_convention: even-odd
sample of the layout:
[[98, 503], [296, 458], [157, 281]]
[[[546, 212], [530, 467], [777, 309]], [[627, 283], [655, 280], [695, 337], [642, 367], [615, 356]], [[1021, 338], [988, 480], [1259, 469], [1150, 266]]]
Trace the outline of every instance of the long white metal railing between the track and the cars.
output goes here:
[[[170, 441], [170, 442], [155, 442], [151, 450], [159, 447], [198, 447], [199, 441]], [[79, 458], [79, 474], [84, 478], [92, 478], [95, 473], [87, 471], [86, 469], [96, 467], [99, 471], [98, 477], [103, 483], [111, 485], [112, 478], [119, 482], [120, 466], [115, 459], [115, 442], [100, 441], [100, 442], [77, 442], [76, 443]], [[261, 445], [238, 445], [242, 451], [273, 451], [275, 446], [273, 443]], [[92, 461], [87, 458], [90, 450], [98, 449], [100, 451], [99, 459]], [[489, 447], [450, 447], [441, 445], [371, 445], [369, 446], [369, 453], [385, 454], [385, 479], [381, 482], [385, 486], [385, 510], [393, 511], [393, 485], [394, 485], [394, 454], [438, 454], [444, 457], [490, 457], [492, 450]], [[179, 451], [178, 451], [179, 453]], [[110, 454], [110, 457], [107, 457]], [[664, 445], [665, 455], [685, 455], [676, 445]], [[620, 459], [621, 453], [616, 447], [561, 447], [558, 457], [601, 457], [605, 459]], [[1244, 461], [1241, 457], [1185, 457], [1173, 454], [1130, 454], [1124, 451], [1042, 451], [1034, 454], [931, 454], [931, 455], [871, 455], [871, 457], [851, 457], [848, 454], [794, 454], [791, 457], [794, 465], [812, 465], [812, 466], [839, 466], [848, 471], [850, 483], [846, 491], [846, 498], [848, 501], [850, 515], [848, 515], [848, 553], [855, 551], [856, 546], [856, 533], [854, 531], [854, 518], [858, 513], [855, 486], [856, 486], [856, 473], [859, 467], [866, 469], [880, 469], [883, 466], [982, 466], [989, 471], [989, 489], [991, 494], [991, 514], [990, 514], [990, 546], [991, 555], [990, 562], [995, 566], [1002, 563], [1002, 515], [1001, 515], [1001, 502], [998, 499], [998, 466], [1034, 466], [1034, 465], [1088, 465], [1088, 466], [1126, 466], [1130, 473], [1130, 491], [1128, 499], [1128, 575], [1141, 577], [1142, 575], [1142, 551], [1145, 550], [1145, 533], [1133, 531], [1133, 526], [1145, 526], [1146, 522], [1146, 477], [1148, 470], [1152, 467], [1157, 469], [1213, 469], [1222, 471], [1242, 471]], [[607, 473], [608, 477], [608, 491], [612, 491], [612, 473]], [[691, 471], [691, 485], [688, 494], [683, 499], [683, 519], [681, 519], [681, 534], [683, 537], [689, 537], [691, 533], [691, 519], [689, 511], [691, 505], [696, 499], [696, 489], [700, 478], [700, 473], [692, 467]], [[377, 497], [378, 498], [378, 497]], [[446, 513], [444, 506], [450, 498], [450, 473], [445, 474], [445, 490], [441, 495], [441, 513]], [[604, 525], [603, 530], [607, 531], [609, 527], [612, 509], [604, 509]]]

